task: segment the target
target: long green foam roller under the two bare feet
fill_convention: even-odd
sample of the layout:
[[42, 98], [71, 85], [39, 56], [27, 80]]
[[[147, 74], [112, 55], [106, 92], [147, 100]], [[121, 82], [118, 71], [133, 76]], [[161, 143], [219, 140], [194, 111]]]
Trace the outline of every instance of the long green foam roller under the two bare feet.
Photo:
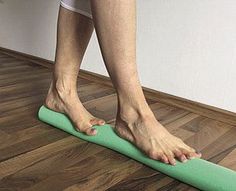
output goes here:
[[52, 111], [44, 105], [40, 107], [38, 117], [41, 121], [71, 135], [117, 151], [198, 189], [206, 191], [236, 191], [236, 172], [228, 168], [198, 158], [189, 160], [186, 163], [177, 162], [175, 166], [164, 164], [148, 158], [133, 144], [116, 135], [113, 128], [108, 124], [94, 126], [97, 129], [97, 134], [95, 136], [87, 136], [76, 131], [65, 114]]

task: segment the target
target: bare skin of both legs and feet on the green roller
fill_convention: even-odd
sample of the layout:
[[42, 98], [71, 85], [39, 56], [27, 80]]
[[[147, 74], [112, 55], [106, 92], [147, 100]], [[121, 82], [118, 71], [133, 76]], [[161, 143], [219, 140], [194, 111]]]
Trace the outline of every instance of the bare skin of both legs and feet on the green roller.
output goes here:
[[45, 105], [66, 113], [75, 128], [87, 135], [96, 134], [93, 125], [105, 123], [91, 115], [77, 95], [78, 70], [95, 27], [118, 97], [116, 133], [150, 158], [167, 164], [175, 165], [176, 159], [186, 162], [201, 157], [156, 120], [145, 100], [136, 65], [135, 3], [135, 0], [93, 0], [93, 20], [60, 8], [55, 68]]

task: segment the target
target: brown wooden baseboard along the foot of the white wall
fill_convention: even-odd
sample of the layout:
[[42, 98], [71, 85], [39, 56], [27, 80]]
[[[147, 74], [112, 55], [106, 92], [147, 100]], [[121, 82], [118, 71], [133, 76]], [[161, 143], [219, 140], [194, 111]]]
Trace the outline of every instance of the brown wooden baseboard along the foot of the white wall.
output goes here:
[[[33, 62], [44, 67], [53, 68], [53, 62], [50, 60], [46, 60], [40, 57], [32, 56], [29, 54], [17, 52], [14, 50], [9, 50], [6, 48], [0, 47], [0, 51], [9, 56], [18, 58], [20, 60], [25, 60], [29, 62]], [[95, 81], [97, 83], [107, 85], [112, 87], [112, 83], [109, 77], [96, 74], [93, 72], [89, 72], [86, 70], [80, 70], [79, 76], [84, 79], [88, 79], [90, 81]], [[224, 123], [235, 125], [236, 126], [236, 113], [223, 110], [217, 107], [209, 106], [206, 104], [202, 104], [199, 102], [191, 101], [185, 98], [173, 96], [164, 92], [160, 92], [157, 90], [152, 90], [150, 88], [143, 87], [145, 97], [148, 99], [152, 99], [154, 101], [158, 101], [160, 103], [165, 103], [167, 105], [175, 106], [178, 108], [185, 109], [190, 112], [194, 112], [196, 114], [215, 119], [218, 121], [222, 121]]]

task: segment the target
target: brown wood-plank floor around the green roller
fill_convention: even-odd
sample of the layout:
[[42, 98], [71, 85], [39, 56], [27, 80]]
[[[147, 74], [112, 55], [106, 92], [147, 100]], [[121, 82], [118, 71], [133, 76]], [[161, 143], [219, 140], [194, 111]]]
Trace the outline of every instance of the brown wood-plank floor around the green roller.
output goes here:
[[[196, 190], [39, 121], [50, 79], [50, 69], [0, 52], [0, 190]], [[85, 107], [114, 125], [114, 89], [82, 78], [78, 84]], [[204, 159], [236, 170], [236, 127], [148, 103], [156, 118]]]

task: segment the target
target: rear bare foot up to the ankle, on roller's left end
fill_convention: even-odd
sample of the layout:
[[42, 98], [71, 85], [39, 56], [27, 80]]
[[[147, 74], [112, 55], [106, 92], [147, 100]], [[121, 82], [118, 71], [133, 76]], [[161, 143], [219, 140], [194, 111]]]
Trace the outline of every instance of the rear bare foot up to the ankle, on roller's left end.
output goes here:
[[53, 87], [51, 83], [45, 106], [53, 111], [64, 113], [73, 122], [75, 128], [87, 135], [95, 135], [93, 125], [104, 125], [105, 121], [90, 114], [80, 102], [76, 91], [68, 91], [63, 87]]

